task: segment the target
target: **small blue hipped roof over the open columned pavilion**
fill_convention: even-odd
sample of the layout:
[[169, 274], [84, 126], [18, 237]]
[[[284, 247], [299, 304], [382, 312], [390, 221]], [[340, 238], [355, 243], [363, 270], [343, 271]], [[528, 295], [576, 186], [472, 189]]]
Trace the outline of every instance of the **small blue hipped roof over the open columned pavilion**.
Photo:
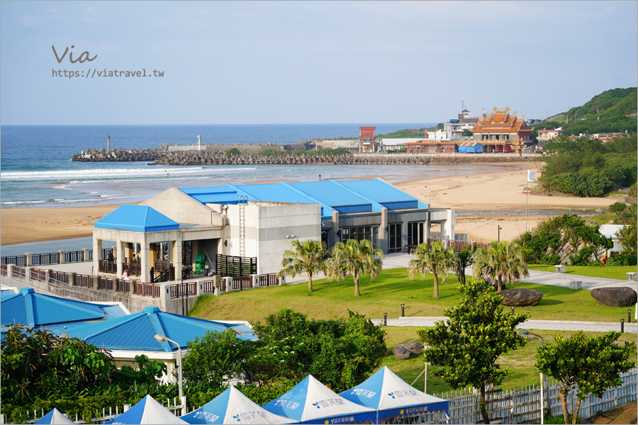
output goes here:
[[158, 232], [179, 229], [179, 223], [146, 205], [121, 205], [95, 222], [98, 229]]

